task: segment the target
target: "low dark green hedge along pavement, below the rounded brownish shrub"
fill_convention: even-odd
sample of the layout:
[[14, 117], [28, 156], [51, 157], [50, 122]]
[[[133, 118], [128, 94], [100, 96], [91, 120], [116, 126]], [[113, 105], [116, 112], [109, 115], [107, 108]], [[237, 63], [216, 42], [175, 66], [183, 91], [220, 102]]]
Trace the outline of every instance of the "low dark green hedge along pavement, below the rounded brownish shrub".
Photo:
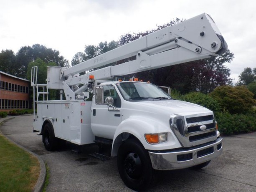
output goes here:
[[256, 113], [230, 114], [228, 112], [216, 113], [218, 131], [224, 135], [242, 134], [256, 131]]

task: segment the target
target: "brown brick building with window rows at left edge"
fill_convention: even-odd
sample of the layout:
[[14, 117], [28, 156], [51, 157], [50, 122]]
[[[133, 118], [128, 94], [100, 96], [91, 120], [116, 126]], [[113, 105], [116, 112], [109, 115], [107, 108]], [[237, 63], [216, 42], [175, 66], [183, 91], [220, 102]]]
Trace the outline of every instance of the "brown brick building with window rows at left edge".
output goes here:
[[0, 71], [0, 111], [29, 108], [30, 81]]

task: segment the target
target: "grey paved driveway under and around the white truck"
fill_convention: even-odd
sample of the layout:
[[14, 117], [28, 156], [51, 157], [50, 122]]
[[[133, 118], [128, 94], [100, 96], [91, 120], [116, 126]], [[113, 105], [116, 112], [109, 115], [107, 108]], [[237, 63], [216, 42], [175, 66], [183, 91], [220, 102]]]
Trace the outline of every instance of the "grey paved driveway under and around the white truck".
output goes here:
[[[119, 177], [116, 158], [102, 162], [87, 153], [77, 154], [68, 144], [56, 152], [44, 149], [42, 137], [33, 133], [33, 116], [16, 116], [0, 130], [13, 141], [38, 154], [50, 168], [51, 191], [132, 191]], [[182, 169], [161, 172], [161, 179], [150, 191], [256, 192], [256, 132], [224, 137], [223, 154], [200, 171]]]

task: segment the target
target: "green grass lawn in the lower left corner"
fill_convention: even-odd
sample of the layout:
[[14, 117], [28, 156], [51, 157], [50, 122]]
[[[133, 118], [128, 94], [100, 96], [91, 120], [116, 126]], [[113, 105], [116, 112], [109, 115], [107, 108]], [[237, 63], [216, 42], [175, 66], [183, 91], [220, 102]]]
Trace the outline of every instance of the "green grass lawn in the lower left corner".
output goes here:
[[39, 174], [38, 159], [0, 134], [0, 192], [30, 192]]

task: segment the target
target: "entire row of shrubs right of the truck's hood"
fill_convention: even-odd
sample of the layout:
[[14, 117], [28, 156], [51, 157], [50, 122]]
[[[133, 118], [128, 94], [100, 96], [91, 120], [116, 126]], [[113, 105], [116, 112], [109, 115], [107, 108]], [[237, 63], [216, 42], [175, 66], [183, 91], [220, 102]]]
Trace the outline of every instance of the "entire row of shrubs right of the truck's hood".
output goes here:
[[223, 86], [215, 90], [221, 93], [217, 98], [213, 96], [216, 93], [213, 91], [208, 95], [191, 92], [180, 96], [179, 99], [212, 110], [218, 122], [218, 130], [223, 135], [256, 131], [256, 107], [252, 107], [255, 101], [252, 95], [247, 94], [248, 90], [243, 86]]

